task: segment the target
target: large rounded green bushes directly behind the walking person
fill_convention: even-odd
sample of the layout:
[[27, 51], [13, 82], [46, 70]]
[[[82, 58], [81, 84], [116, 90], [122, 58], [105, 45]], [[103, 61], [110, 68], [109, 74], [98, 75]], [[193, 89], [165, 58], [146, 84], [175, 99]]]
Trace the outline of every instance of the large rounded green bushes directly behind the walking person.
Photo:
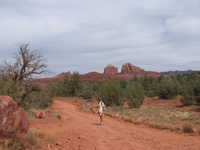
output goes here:
[[124, 83], [117, 81], [102, 83], [98, 96], [108, 106], [122, 106], [124, 102], [127, 102], [130, 107], [140, 107], [144, 100], [144, 90], [141, 84], [134, 81]]

